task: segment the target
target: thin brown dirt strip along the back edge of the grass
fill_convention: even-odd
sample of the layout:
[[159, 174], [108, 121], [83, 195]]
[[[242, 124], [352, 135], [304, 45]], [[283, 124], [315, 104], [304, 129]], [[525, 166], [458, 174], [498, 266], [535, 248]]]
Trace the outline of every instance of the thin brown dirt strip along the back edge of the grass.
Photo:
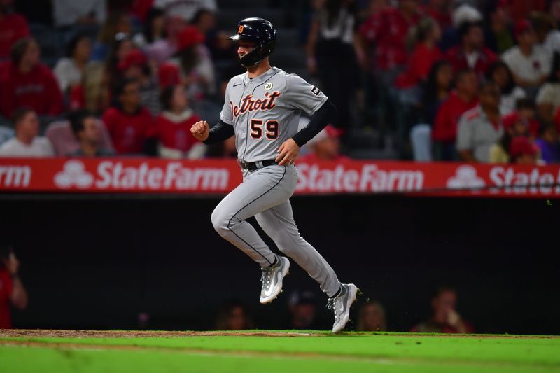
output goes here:
[[[366, 333], [370, 334], [370, 333]], [[376, 335], [385, 335], [390, 333], [379, 332]], [[361, 333], [340, 333], [340, 335], [364, 335]], [[34, 338], [151, 338], [151, 337], [213, 337], [213, 336], [240, 336], [240, 337], [329, 337], [330, 333], [318, 332], [273, 332], [269, 330], [255, 330], [255, 331], [241, 331], [241, 332], [222, 332], [222, 331], [208, 331], [208, 332], [195, 332], [195, 331], [155, 331], [155, 330], [54, 330], [54, 329], [0, 329], [1, 337], [34, 337]], [[419, 337], [415, 333], [402, 333], [398, 334], [400, 337]], [[426, 337], [426, 335], [423, 335]], [[430, 335], [427, 335], [429, 337]], [[547, 336], [547, 335], [433, 335], [434, 337], [465, 337], [465, 338], [552, 338], [558, 339], [560, 336]]]

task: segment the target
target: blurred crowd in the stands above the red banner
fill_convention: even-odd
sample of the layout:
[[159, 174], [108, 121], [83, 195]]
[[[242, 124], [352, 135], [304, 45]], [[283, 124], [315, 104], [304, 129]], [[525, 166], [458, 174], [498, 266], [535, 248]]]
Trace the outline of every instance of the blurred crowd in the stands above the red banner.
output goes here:
[[[307, 156], [342, 159], [358, 127], [390, 134], [405, 159], [560, 162], [560, 0], [297, 8], [305, 67], [338, 108]], [[0, 0], [0, 155], [235, 156], [231, 141], [190, 134], [217, 122], [243, 72], [220, 11], [215, 0]]]

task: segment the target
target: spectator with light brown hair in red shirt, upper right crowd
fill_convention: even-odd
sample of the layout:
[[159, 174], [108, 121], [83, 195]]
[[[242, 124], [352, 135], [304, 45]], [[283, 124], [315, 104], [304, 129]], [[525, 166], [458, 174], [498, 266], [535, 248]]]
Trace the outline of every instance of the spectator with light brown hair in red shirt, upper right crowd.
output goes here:
[[440, 41], [442, 31], [433, 18], [423, 18], [411, 33], [415, 42], [414, 51], [409, 58], [407, 69], [395, 82], [399, 88], [414, 87], [425, 82], [433, 64], [443, 57], [436, 45]]

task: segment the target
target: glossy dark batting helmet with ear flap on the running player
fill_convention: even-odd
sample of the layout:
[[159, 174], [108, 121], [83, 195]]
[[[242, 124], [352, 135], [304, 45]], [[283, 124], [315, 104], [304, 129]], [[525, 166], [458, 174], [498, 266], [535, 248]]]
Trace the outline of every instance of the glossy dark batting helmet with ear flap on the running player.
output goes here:
[[230, 36], [233, 41], [252, 41], [255, 48], [241, 57], [241, 66], [251, 67], [270, 55], [276, 46], [276, 29], [262, 18], [245, 18], [237, 24], [237, 34]]

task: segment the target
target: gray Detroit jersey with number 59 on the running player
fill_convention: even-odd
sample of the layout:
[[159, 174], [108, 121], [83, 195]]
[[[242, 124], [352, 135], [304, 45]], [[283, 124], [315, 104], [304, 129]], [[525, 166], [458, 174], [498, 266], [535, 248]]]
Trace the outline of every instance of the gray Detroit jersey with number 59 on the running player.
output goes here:
[[234, 127], [240, 160], [273, 160], [280, 145], [297, 133], [301, 112], [313, 115], [326, 101], [300, 76], [272, 67], [253, 79], [247, 73], [232, 78], [220, 117]]

